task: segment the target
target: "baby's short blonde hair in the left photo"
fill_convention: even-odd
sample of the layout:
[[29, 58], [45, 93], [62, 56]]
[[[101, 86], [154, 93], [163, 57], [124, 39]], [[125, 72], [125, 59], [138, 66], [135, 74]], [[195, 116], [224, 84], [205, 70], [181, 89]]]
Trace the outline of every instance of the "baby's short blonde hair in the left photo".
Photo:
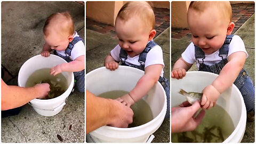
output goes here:
[[43, 33], [47, 37], [50, 31], [49, 27], [54, 27], [54, 30], [62, 36], [69, 36], [74, 34], [74, 23], [71, 15], [68, 12], [53, 13], [44, 23]]

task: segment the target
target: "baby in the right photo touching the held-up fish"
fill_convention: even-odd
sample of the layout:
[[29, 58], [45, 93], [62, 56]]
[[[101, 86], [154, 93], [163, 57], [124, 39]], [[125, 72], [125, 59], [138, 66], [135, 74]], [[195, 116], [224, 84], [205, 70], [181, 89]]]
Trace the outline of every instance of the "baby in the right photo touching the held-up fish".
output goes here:
[[243, 95], [247, 112], [254, 114], [255, 88], [243, 69], [248, 54], [243, 40], [231, 35], [235, 26], [231, 16], [229, 2], [190, 3], [187, 19], [193, 39], [175, 62], [171, 77], [184, 77], [196, 62], [198, 70], [219, 75], [202, 91], [203, 109], [214, 107], [220, 94], [234, 83]]

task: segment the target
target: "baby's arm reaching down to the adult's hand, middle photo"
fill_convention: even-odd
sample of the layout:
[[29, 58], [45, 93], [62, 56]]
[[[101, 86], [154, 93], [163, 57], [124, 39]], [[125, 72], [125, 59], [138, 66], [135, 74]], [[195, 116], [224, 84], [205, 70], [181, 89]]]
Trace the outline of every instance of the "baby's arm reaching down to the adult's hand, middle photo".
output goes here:
[[159, 76], [161, 74], [163, 65], [156, 64], [150, 65], [145, 68], [145, 75], [143, 75], [134, 89], [132, 89], [129, 94], [125, 94], [117, 100], [124, 103], [126, 106], [132, 106], [135, 102], [140, 100], [148, 91], [157, 83]]

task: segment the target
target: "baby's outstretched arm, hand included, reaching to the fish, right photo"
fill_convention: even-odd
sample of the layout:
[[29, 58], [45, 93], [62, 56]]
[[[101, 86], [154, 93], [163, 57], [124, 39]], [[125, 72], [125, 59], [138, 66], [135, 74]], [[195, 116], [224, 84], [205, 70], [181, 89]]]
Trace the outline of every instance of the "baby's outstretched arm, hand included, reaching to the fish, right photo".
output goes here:
[[235, 52], [229, 55], [228, 63], [222, 68], [219, 76], [203, 90], [201, 102], [203, 109], [212, 108], [220, 94], [235, 82], [239, 72], [244, 67], [245, 59], [245, 52]]

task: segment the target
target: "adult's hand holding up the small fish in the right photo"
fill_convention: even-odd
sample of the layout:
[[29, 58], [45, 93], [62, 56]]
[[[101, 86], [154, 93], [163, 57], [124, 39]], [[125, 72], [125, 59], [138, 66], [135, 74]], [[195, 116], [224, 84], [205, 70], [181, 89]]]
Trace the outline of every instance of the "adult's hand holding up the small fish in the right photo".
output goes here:
[[172, 108], [171, 132], [176, 133], [195, 130], [205, 115], [205, 111], [201, 110], [200, 113], [194, 117], [200, 107], [198, 101], [194, 102], [193, 105], [185, 101], [181, 103], [180, 106]]

